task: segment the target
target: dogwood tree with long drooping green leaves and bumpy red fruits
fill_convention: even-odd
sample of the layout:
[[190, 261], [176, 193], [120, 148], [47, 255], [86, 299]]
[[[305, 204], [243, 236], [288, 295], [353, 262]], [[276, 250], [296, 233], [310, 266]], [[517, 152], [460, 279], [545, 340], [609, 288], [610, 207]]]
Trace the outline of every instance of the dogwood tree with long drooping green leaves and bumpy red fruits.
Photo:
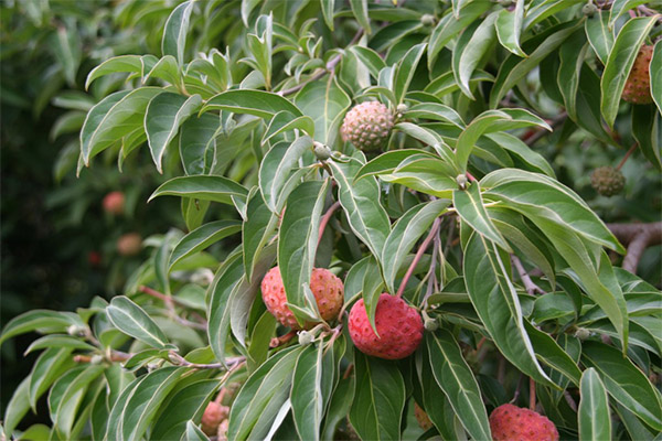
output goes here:
[[160, 57], [87, 76], [126, 85], [87, 111], [77, 169], [149, 150], [172, 175], [150, 201], [181, 198], [185, 232], [152, 240], [124, 295], [4, 326], [44, 334], [6, 435], [47, 391], [52, 427], [24, 439], [482, 440], [509, 401], [564, 438], [653, 439], [662, 298], [636, 272], [662, 224], [606, 225], [533, 149], [627, 147], [604, 193], [631, 154], [659, 173], [643, 3], [168, 10]]

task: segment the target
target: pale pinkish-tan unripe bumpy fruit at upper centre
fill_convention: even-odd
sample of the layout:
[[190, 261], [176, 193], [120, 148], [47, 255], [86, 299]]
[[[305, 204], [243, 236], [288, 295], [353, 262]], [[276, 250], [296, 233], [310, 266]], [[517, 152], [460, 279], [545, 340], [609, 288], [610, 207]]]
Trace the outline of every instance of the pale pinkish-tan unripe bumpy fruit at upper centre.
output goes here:
[[393, 114], [377, 101], [361, 103], [348, 111], [340, 135], [364, 151], [377, 150], [386, 143], [393, 128]]

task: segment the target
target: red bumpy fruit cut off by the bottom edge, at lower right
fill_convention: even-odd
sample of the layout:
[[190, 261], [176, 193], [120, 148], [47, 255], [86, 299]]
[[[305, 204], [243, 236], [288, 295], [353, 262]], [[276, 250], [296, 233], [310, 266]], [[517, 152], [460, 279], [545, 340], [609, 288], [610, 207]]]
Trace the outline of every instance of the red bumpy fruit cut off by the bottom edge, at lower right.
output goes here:
[[513, 405], [499, 406], [490, 415], [494, 441], [558, 441], [556, 426], [546, 417]]

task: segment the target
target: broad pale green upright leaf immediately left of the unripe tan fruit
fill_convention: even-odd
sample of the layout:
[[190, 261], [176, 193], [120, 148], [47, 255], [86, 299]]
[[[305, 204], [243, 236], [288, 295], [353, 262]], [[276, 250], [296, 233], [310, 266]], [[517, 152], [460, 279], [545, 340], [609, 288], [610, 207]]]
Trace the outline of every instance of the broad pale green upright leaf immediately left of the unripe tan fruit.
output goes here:
[[314, 140], [333, 146], [345, 110], [352, 100], [338, 85], [335, 76], [327, 82], [310, 82], [295, 97], [295, 105], [314, 121]]

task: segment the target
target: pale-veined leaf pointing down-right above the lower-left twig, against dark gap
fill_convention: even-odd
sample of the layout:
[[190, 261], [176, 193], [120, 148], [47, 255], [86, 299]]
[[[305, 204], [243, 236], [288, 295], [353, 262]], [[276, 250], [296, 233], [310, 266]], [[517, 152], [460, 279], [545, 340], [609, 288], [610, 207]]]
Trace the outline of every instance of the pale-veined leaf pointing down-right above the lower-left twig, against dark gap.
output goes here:
[[152, 347], [163, 348], [168, 338], [145, 310], [125, 295], [113, 298], [106, 306], [108, 319], [121, 332]]

